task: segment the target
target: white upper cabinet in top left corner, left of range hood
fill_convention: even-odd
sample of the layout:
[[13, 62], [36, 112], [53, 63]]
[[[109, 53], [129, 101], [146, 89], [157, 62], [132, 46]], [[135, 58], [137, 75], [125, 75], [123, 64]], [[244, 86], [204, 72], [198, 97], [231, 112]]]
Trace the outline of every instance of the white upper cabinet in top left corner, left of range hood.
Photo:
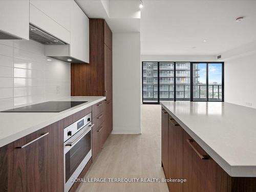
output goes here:
[[29, 0], [0, 1], [0, 37], [29, 40]]

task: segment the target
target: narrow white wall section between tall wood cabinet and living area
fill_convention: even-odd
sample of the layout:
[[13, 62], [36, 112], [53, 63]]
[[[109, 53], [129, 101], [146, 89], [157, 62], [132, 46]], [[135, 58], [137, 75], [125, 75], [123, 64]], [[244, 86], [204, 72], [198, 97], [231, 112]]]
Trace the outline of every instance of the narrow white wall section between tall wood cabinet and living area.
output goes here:
[[141, 133], [140, 33], [113, 33], [113, 132]]

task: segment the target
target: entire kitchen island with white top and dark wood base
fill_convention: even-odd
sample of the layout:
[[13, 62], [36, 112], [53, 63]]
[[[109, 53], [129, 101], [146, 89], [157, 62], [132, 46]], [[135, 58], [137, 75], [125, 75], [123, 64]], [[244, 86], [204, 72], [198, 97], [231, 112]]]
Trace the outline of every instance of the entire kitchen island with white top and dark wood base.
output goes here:
[[[183, 188], [172, 184], [174, 191], [181, 188], [194, 191], [190, 184], [195, 186], [201, 183], [200, 179], [208, 183], [205, 191], [255, 191], [255, 109], [226, 102], [162, 101], [160, 104], [165, 176], [188, 177], [184, 178], [188, 182]], [[164, 155], [168, 152], [169, 155]], [[236, 185], [250, 189], [237, 190]]]

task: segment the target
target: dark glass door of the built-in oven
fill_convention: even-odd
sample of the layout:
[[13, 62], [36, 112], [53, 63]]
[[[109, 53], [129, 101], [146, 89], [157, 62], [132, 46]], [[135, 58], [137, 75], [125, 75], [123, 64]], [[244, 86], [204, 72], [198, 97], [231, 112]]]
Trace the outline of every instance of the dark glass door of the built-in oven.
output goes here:
[[92, 131], [89, 131], [86, 135], [84, 135], [65, 154], [66, 183], [92, 148], [91, 132]]

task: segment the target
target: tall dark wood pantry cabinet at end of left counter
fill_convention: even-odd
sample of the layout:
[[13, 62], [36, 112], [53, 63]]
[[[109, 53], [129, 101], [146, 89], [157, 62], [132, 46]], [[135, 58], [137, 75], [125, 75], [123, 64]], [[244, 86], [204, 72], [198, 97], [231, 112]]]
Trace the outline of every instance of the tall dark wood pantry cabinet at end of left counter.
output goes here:
[[71, 95], [112, 100], [112, 32], [104, 19], [90, 19], [90, 62], [71, 64]]

